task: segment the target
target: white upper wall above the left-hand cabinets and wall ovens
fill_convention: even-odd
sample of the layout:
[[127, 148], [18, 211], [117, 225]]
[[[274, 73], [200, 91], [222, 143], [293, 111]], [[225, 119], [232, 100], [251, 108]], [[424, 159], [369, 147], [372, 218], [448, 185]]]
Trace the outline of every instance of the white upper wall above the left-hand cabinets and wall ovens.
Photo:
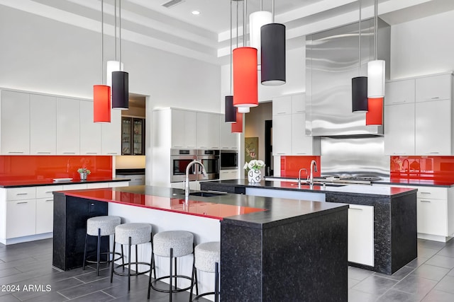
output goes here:
[[[93, 85], [101, 83], [100, 33], [0, 5], [0, 41], [0, 87], [92, 98]], [[122, 46], [129, 91], [149, 95], [145, 154], [150, 170], [153, 108], [219, 112], [221, 67], [133, 42]], [[114, 59], [114, 38], [105, 35], [104, 61], [109, 59]]]

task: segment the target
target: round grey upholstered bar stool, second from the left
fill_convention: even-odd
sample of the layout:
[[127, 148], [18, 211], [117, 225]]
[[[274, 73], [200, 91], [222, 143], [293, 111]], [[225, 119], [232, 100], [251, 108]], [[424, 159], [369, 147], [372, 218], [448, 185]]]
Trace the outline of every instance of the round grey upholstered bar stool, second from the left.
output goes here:
[[[153, 269], [153, 272], [156, 277], [156, 272], [155, 272], [152, 262], [148, 263], [148, 262], [138, 261], [138, 248], [137, 247], [138, 247], [138, 245], [143, 244], [143, 243], [150, 243], [152, 257], [153, 257], [153, 233], [151, 233], [150, 223], [123, 223], [123, 224], [120, 224], [119, 226], [116, 226], [115, 240], [114, 240], [114, 252], [115, 252], [116, 243], [121, 244], [122, 249], [123, 249], [123, 245], [128, 245], [128, 263], [124, 263], [124, 260], [122, 257], [122, 260], [123, 260], [122, 264], [114, 267], [114, 262], [112, 261], [111, 283], [114, 278], [114, 274], [116, 274], [118, 276], [123, 276], [123, 277], [128, 276], [128, 291], [130, 291], [131, 290], [131, 276], [138, 276], [140, 274], [146, 274], [148, 272], [150, 272], [150, 276], [151, 276], [151, 271]], [[132, 245], [135, 245], [135, 262], [131, 262], [131, 246]], [[134, 273], [131, 273], [131, 265], [135, 265]], [[139, 272], [138, 265], [148, 265], [150, 267], [150, 269], [148, 269], [144, 272]], [[124, 271], [126, 266], [128, 266], [127, 273], [118, 272], [118, 270], [116, 270], [119, 267], [121, 267]]]

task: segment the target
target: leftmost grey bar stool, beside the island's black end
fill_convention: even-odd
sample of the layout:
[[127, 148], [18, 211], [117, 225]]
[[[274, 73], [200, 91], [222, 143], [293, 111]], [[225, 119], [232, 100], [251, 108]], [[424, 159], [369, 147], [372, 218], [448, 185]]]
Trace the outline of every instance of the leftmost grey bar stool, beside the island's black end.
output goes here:
[[[103, 263], [109, 263], [109, 257], [106, 261], [101, 261], [101, 255], [110, 255], [114, 252], [110, 252], [110, 248], [106, 252], [101, 252], [101, 237], [114, 235], [115, 237], [115, 227], [121, 223], [121, 218], [118, 216], [96, 216], [87, 219], [87, 233], [85, 234], [85, 246], [84, 246], [84, 263], [82, 264], [82, 269], [85, 269], [85, 263], [96, 263], [96, 274], [99, 276], [99, 265]], [[87, 256], [87, 241], [88, 236], [96, 236], [98, 238], [96, 246], [96, 261], [89, 260], [89, 257], [94, 255]], [[123, 254], [123, 250], [122, 250]], [[116, 255], [120, 255], [117, 253]], [[120, 259], [120, 258], [118, 258]], [[116, 260], [118, 260], [116, 259]]]

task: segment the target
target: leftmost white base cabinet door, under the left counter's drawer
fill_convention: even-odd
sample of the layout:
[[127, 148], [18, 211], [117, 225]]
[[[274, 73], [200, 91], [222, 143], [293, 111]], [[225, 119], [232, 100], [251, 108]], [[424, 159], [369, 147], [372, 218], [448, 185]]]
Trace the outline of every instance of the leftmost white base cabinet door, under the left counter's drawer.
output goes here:
[[6, 217], [7, 239], [35, 235], [36, 199], [7, 201]]

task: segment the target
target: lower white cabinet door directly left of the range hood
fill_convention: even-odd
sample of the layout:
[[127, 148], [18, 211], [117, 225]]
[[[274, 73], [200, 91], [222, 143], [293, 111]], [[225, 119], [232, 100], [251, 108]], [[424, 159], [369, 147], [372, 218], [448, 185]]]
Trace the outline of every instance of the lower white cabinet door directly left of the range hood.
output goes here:
[[[274, 128], [274, 125], [273, 125]], [[306, 136], [306, 113], [292, 115], [292, 154], [316, 155], [312, 149], [313, 137]]]

